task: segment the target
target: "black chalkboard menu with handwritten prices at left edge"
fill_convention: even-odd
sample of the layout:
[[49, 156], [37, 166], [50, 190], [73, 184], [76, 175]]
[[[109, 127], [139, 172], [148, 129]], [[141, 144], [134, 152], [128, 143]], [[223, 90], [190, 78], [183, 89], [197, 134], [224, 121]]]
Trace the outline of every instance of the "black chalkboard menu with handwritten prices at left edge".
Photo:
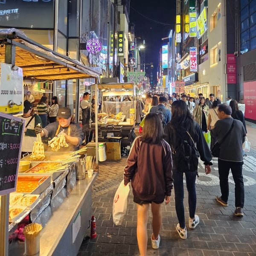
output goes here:
[[24, 121], [0, 113], [0, 195], [16, 190]]

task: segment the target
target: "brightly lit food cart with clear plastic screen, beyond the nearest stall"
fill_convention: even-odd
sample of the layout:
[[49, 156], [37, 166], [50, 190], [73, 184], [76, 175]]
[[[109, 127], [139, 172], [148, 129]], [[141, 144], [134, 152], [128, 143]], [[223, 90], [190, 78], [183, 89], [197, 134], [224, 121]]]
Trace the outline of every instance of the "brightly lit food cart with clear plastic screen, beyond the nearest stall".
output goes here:
[[[121, 146], [130, 145], [128, 134], [135, 126], [136, 89], [132, 83], [98, 84], [102, 92], [102, 112], [107, 113], [98, 119], [100, 141], [108, 137], [122, 138]], [[92, 124], [96, 130], [96, 124]]]

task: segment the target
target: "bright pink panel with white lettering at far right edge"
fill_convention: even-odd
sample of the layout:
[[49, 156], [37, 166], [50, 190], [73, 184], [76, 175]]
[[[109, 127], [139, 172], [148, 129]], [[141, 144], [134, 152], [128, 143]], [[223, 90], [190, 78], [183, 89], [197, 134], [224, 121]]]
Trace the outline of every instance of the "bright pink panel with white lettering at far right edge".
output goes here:
[[256, 120], [256, 81], [244, 82], [245, 117]]

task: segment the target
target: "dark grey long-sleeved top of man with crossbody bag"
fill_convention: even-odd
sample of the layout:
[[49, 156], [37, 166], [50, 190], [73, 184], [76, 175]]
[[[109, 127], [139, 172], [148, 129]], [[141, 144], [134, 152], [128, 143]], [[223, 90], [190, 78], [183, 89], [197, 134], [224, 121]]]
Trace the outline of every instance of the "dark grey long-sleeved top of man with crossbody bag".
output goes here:
[[233, 119], [232, 117], [218, 120], [215, 123], [215, 128], [211, 130], [211, 134], [218, 140], [218, 143], [221, 143], [229, 131], [233, 120], [234, 126], [230, 134], [221, 144], [218, 158], [225, 161], [242, 162], [244, 159], [242, 145], [245, 141], [246, 134], [241, 121]]

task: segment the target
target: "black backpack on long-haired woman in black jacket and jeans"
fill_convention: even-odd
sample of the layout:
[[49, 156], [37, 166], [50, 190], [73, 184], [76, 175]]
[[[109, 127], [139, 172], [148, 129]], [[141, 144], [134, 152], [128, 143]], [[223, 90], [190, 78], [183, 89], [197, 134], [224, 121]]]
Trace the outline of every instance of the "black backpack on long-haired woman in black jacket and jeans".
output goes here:
[[[200, 157], [195, 142], [188, 131], [185, 133], [173, 133], [176, 145], [171, 145], [172, 160], [179, 172], [194, 172], [198, 169], [198, 157]], [[177, 143], [178, 142], [178, 143]]]

